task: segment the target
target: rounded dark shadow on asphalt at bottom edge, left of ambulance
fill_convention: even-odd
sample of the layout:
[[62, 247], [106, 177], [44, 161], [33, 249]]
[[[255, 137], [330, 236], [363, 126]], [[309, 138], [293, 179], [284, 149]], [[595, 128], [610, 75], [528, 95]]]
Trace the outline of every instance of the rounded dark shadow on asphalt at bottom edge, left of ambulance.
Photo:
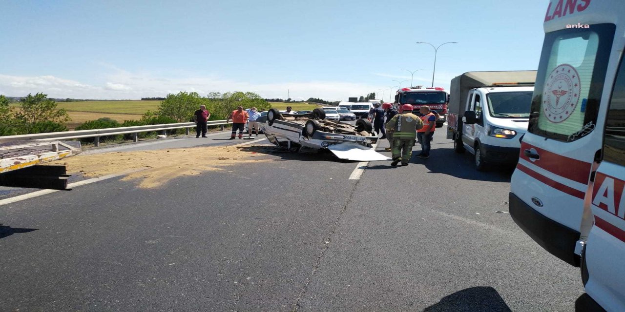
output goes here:
[[471, 287], [457, 291], [441, 299], [436, 305], [429, 306], [424, 312], [475, 312], [497, 311], [511, 312], [497, 291], [490, 286]]

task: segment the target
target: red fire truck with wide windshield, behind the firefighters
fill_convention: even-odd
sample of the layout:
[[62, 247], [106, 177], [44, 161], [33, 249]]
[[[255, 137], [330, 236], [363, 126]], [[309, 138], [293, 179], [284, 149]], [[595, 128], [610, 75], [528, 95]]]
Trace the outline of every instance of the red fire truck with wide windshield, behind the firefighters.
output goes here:
[[403, 104], [411, 104], [414, 114], [419, 114], [421, 106], [427, 106], [431, 110], [436, 110], [439, 114], [436, 120], [436, 127], [441, 127], [447, 121], [447, 104], [449, 103], [449, 93], [441, 87], [421, 89], [421, 87], [402, 88], [397, 90], [395, 95], [396, 107]]

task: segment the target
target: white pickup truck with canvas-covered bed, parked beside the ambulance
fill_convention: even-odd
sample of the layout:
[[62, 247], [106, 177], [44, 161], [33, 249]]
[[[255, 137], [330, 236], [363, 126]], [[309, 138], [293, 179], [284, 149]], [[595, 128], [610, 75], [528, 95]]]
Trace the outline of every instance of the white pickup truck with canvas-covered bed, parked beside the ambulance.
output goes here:
[[[451, 80], [447, 139], [469, 150], [475, 166], [516, 165], [527, 131], [536, 71], [465, 72]], [[522, 86], [524, 85], [524, 86]]]

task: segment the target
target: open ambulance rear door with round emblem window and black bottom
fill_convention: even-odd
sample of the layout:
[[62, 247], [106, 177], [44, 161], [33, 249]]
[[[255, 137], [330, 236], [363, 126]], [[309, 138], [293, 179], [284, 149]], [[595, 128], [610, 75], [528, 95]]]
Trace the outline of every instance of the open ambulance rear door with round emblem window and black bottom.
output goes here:
[[[535, 241], [571, 265], [591, 169], [614, 24], [547, 32], [528, 132], [511, 179], [510, 213]], [[524, 205], [515, 206], [516, 200]], [[528, 215], [536, 217], [527, 218]]]

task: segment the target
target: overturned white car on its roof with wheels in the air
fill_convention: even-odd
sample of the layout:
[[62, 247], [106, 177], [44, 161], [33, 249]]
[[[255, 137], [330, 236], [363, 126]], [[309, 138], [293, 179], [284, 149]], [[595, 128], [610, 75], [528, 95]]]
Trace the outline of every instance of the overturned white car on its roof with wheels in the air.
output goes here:
[[309, 114], [281, 114], [269, 109], [261, 129], [277, 147], [301, 152], [306, 149], [328, 149], [339, 158], [357, 161], [390, 160], [377, 153], [377, 135], [372, 133], [371, 122], [359, 119], [356, 125], [342, 124], [325, 119], [322, 109]]

